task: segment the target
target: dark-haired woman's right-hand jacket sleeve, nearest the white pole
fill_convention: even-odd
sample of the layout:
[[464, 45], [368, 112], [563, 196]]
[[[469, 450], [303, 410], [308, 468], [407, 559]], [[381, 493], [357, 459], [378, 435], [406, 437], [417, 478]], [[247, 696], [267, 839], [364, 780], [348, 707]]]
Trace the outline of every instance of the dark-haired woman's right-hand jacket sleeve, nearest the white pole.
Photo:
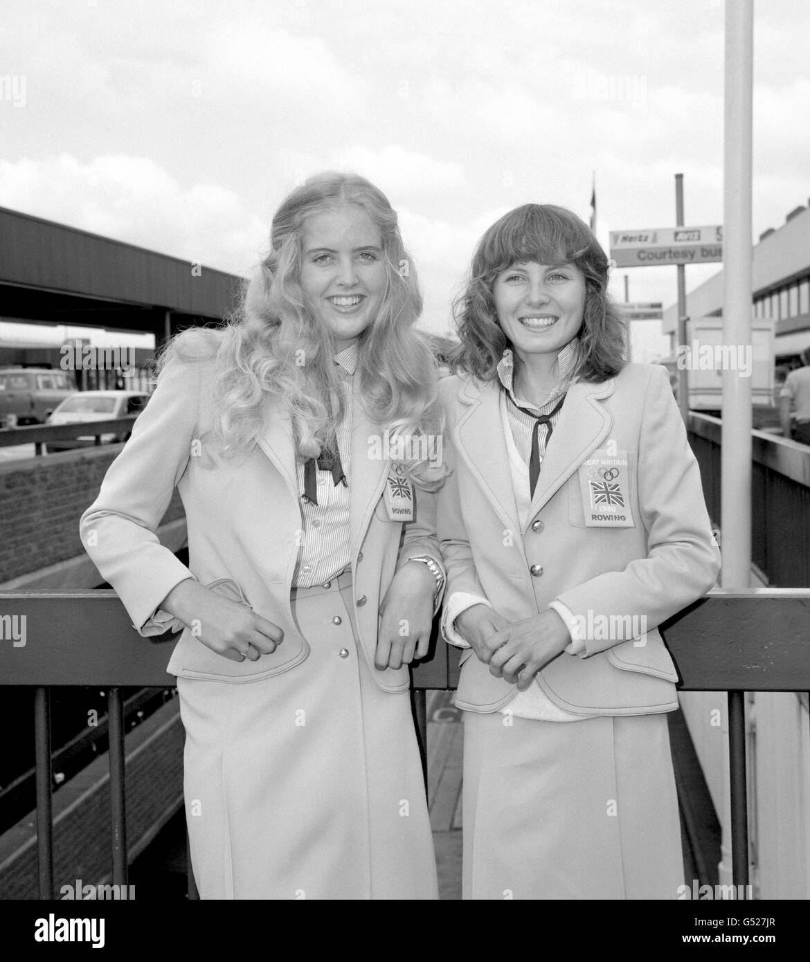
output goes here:
[[[720, 571], [700, 485], [700, 470], [672, 396], [665, 367], [652, 369], [644, 398], [639, 438], [638, 493], [647, 534], [647, 557], [622, 571], [608, 571], [559, 595], [580, 624], [588, 612], [622, 619], [644, 616], [645, 631], [704, 595]], [[624, 623], [627, 623], [626, 621]], [[625, 637], [585, 638], [588, 657]], [[622, 637], [616, 637], [620, 634]]]

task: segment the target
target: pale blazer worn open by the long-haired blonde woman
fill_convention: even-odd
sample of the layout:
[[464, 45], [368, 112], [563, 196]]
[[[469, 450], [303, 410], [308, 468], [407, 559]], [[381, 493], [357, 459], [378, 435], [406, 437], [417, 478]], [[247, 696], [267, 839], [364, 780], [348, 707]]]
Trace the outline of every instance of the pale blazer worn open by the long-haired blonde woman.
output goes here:
[[[291, 419], [266, 404], [264, 431], [241, 462], [225, 459], [210, 436], [214, 410], [210, 362], [165, 368], [132, 437], [114, 460], [98, 497], [84, 513], [81, 537], [101, 575], [121, 598], [140, 635], [162, 634], [154, 616], [165, 596], [192, 576], [234, 596], [236, 582], [250, 606], [284, 630], [284, 641], [258, 661], [230, 661], [186, 628], [167, 671], [185, 678], [252, 682], [303, 663], [310, 646], [291, 611], [291, 584], [301, 544]], [[392, 521], [383, 499], [391, 462], [369, 457], [381, 429], [364, 416], [355, 396], [350, 466], [351, 571], [360, 646], [379, 686], [408, 689], [407, 666], [373, 668], [378, 609], [399, 563], [432, 554], [435, 502], [419, 498], [411, 522]], [[156, 530], [175, 487], [189, 536], [189, 567], [160, 544]], [[418, 495], [418, 489], [415, 490]], [[404, 530], [403, 530], [404, 529]], [[402, 553], [400, 555], [400, 542]], [[238, 595], [237, 595], [238, 597]]]

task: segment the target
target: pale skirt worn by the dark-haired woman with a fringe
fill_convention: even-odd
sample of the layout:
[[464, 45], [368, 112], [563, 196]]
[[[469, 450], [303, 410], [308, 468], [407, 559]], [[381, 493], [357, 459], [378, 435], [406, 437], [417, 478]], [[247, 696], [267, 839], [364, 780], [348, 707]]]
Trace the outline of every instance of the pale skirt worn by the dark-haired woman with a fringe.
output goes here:
[[666, 715], [464, 725], [464, 899], [678, 898]]

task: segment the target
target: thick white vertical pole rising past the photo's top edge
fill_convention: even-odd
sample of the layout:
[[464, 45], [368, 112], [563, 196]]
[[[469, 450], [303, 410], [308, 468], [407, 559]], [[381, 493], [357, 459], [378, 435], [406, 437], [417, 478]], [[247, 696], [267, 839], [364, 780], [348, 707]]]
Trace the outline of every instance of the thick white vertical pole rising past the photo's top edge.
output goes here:
[[[722, 216], [722, 337], [726, 358], [751, 347], [751, 103], [753, 0], [725, 4], [725, 130]], [[722, 371], [721, 587], [747, 591], [751, 567], [751, 382]], [[723, 713], [724, 714], [724, 713]], [[727, 725], [723, 726], [727, 730]], [[730, 881], [728, 779], [721, 882]]]

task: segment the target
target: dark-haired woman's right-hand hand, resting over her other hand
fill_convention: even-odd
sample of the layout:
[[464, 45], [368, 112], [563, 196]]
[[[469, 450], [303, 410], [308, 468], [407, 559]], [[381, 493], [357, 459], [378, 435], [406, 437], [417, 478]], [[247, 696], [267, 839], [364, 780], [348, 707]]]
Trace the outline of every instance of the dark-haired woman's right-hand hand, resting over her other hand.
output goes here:
[[553, 608], [516, 621], [487, 639], [492, 652], [490, 674], [525, 692], [537, 672], [564, 651], [570, 640], [566, 622]]

